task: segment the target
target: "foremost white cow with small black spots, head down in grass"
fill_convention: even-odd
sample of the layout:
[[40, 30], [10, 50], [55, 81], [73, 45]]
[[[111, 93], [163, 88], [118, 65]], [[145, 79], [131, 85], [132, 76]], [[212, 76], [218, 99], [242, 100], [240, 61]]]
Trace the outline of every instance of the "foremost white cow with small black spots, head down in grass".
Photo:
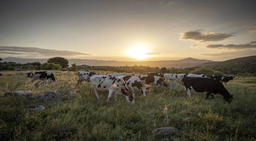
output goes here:
[[128, 103], [134, 104], [134, 94], [130, 93], [124, 80], [121, 78], [110, 76], [110, 75], [94, 75], [90, 77], [96, 98], [98, 97], [98, 90], [109, 91], [108, 100], [111, 98], [112, 94], [115, 94], [115, 101], [117, 101], [117, 94], [123, 94]]

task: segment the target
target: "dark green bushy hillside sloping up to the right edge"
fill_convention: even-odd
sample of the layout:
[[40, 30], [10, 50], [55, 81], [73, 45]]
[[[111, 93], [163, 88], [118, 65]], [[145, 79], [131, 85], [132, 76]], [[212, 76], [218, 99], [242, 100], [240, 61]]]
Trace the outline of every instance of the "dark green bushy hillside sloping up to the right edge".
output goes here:
[[200, 66], [221, 71], [225, 74], [254, 74], [256, 72], [256, 56], [241, 57], [226, 61], [208, 62], [203, 63]]

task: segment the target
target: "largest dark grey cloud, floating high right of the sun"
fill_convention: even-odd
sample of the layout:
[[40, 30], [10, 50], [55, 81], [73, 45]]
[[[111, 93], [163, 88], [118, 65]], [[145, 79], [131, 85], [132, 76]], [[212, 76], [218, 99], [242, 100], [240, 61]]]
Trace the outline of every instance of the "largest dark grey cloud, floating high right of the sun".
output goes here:
[[182, 33], [181, 39], [182, 40], [194, 40], [200, 42], [215, 42], [215, 41], [222, 41], [228, 37], [235, 36], [232, 34], [225, 34], [225, 33], [202, 33], [202, 30], [197, 31], [186, 31]]

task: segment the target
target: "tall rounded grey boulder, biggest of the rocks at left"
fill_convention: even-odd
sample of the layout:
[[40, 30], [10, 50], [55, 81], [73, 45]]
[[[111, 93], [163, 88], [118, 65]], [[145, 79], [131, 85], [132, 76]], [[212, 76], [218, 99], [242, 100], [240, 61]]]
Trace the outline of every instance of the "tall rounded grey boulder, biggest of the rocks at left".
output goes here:
[[52, 91], [52, 90], [47, 90], [44, 92], [44, 94], [39, 95], [39, 100], [40, 101], [62, 101], [62, 96], [59, 92]]

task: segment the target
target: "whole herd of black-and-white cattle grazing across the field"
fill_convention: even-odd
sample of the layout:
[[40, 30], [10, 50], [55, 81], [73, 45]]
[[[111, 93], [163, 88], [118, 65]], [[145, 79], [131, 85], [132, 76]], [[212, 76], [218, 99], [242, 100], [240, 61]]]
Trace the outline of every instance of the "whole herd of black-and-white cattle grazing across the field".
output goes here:
[[[4, 74], [0, 74], [4, 76]], [[26, 72], [27, 78], [34, 80], [48, 80], [57, 81], [52, 72]], [[223, 99], [230, 103], [233, 95], [230, 94], [222, 83], [233, 80], [232, 76], [210, 76], [207, 78], [204, 74], [162, 74], [162, 73], [148, 73], [148, 75], [130, 74], [130, 73], [115, 73], [102, 75], [97, 72], [78, 72], [78, 84], [82, 81], [91, 82], [92, 88], [95, 92], [96, 98], [99, 100], [98, 91], [108, 91], [108, 100], [112, 94], [122, 94], [125, 96], [128, 103], [134, 103], [135, 90], [140, 90], [142, 96], [146, 96], [148, 87], [143, 87], [144, 84], [153, 85], [155, 87], [165, 86], [169, 84], [167, 80], [174, 80], [182, 83], [185, 86], [187, 96], [191, 96], [191, 90], [196, 92], [207, 92], [206, 99], [213, 99], [213, 94], [221, 94]]]

